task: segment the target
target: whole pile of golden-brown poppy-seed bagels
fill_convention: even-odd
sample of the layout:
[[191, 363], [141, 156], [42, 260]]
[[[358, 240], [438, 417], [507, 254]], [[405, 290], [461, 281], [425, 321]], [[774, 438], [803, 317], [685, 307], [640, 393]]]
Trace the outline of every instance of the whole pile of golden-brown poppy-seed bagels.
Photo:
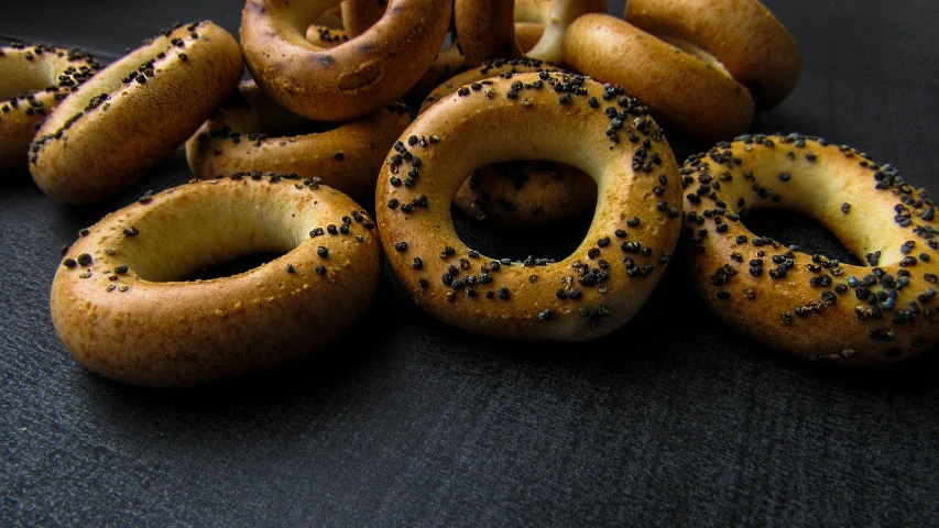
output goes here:
[[[64, 249], [51, 296], [63, 344], [135, 385], [270, 370], [332, 345], [383, 262], [461, 330], [586, 341], [630, 321], [675, 260], [718, 317], [793, 356], [882, 365], [933, 346], [928, 193], [848, 146], [746, 133], [799, 76], [772, 13], [757, 0], [607, 8], [248, 0], [240, 42], [178, 25], [107, 67], [0, 48], [0, 169], [28, 168], [72, 205], [183, 144], [194, 175]], [[717, 143], [679, 166], [663, 127]], [[468, 246], [451, 207], [501, 226], [593, 220], [564, 260], [520, 262]], [[758, 208], [818, 220], [865, 262], [754, 234], [743, 220]], [[261, 252], [282, 256], [188, 279]]]

